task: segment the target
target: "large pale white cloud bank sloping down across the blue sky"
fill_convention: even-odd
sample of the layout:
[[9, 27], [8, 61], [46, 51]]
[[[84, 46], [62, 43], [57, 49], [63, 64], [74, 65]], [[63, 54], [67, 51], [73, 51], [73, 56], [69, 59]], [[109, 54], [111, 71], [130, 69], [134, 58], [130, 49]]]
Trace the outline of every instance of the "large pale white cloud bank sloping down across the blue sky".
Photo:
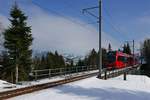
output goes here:
[[[58, 50], [61, 53], [85, 55], [92, 48], [98, 49], [98, 31], [94, 26], [88, 25], [80, 19], [69, 18], [73, 22], [47, 13], [35, 5], [21, 7], [29, 16], [28, 23], [32, 26], [34, 50]], [[7, 25], [7, 18], [1, 17], [3, 18], [2, 22]], [[111, 43], [114, 49], [120, 45], [117, 40], [103, 32], [102, 46], [107, 48], [108, 43]]]

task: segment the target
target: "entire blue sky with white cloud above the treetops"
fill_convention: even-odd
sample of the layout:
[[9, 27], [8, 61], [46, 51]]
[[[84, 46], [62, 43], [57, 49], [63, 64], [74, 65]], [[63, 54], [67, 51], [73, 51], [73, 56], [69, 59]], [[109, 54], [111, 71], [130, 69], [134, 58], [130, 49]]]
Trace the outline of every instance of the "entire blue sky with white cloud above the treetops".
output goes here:
[[[86, 54], [91, 48], [98, 49], [97, 19], [82, 14], [83, 8], [97, 6], [98, 0], [16, 1], [28, 15], [29, 24], [33, 27], [34, 49], [79, 55]], [[13, 2], [14, 0], [0, 0], [0, 18], [4, 26], [9, 23], [6, 19]], [[150, 37], [149, 5], [149, 0], [103, 0], [103, 47], [107, 48], [108, 43], [111, 43], [117, 49], [124, 41], [132, 39], [135, 39], [136, 46], [139, 47], [141, 41]], [[97, 15], [98, 9], [92, 12]]]

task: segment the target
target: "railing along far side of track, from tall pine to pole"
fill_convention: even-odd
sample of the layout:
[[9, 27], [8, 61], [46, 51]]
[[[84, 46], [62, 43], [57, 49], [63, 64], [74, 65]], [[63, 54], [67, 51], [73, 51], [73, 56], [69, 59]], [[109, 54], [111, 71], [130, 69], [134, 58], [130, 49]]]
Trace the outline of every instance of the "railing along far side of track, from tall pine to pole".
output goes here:
[[37, 80], [41, 78], [52, 78], [56, 76], [65, 76], [73, 73], [88, 72], [97, 69], [97, 66], [75, 66], [55, 69], [33, 70], [30, 74], [30, 77]]

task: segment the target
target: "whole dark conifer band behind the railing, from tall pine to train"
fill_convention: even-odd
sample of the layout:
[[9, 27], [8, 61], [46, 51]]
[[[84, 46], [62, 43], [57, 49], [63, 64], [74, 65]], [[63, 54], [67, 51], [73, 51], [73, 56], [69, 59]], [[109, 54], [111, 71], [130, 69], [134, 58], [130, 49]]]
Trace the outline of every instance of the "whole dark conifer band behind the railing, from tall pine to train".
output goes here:
[[[102, 62], [105, 65], [107, 61], [107, 51], [102, 49]], [[67, 59], [70, 59], [68, 62]], [[77, 63], [74, 63], [74, 60], [71, 58], [65, 59], [62, 55], [55, 53], [47, 52], [42, 55], [36, 55], [33, 57], [32, 68], [34, 70], [42, 69], [55, 69], [55, 68], [64, 68], [64, 67], [74, 67], [74, 66], [93, 66], [97, 67], [99, 63], [99, 52], [96, 52], [95, 49], [92, 49], [89, 54], [87, 54], [84, 59], [79, 59]]]

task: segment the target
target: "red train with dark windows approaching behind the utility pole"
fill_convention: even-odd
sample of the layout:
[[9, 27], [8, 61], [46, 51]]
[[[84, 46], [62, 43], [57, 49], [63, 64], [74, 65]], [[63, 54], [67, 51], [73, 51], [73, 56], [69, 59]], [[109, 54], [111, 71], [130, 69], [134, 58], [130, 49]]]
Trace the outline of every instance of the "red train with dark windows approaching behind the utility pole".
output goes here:
[[106, 67], [108, 69], [120, 69], [137, 63], [137, 60], [133, 59], [133, 55], [128, 55], [121, 51], [110, 51], [107, 53]]

